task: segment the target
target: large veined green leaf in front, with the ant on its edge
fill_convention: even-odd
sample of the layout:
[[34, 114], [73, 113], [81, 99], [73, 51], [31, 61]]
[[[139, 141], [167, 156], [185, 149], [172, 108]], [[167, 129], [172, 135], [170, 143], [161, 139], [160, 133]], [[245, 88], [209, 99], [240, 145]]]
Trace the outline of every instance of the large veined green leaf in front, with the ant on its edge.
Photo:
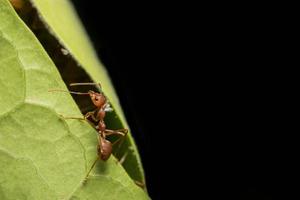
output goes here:
[[0, 0], [0, 199], [148, 199], [111, 157], [96, 158], [85, 121], [47, 53], [7, 0]]

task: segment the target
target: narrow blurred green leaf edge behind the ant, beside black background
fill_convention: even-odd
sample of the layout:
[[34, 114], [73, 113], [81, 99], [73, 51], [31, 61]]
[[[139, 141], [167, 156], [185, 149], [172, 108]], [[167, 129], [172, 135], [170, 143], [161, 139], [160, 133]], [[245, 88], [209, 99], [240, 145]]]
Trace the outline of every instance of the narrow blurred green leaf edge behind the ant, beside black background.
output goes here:
[[[73, 55], [89, 78], [96, 83], [101, 83], [105, 95], [108, 96], [115, 110], [113, 116], [109, 118], [112, 120], [109, 122], [110, 127], [129, 128], [107, 72], [98, 60], [70, 2], [68, 0], [31, 0], [31, 2], [37, 8], [44, 23], [47, 24], [49, 31]], [[91, 6], [93, 6], [92, 3]], [[122, 149], [127, 149], [128, 153], [123, 164], [125, 170], [134, 180], [145, 182], [143, 167], [130, 130], [124, 146], [125, 148]]]

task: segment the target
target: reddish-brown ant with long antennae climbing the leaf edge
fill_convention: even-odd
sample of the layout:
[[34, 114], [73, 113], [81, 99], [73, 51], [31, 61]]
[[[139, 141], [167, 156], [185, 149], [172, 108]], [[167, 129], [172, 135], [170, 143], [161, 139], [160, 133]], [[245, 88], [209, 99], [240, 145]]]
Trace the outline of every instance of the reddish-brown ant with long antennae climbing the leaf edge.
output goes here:
[[[101, 91], [101, 85], [100, 83], [72, 83], [70, 86], [76, 86], [76, 85], [98, 85], [100, 87]], [[99, 160], [99, 158], [103, 161], [108, 160], [110, 155], [112, 154], [112, 147], [114, 144], [119, 142], [121, 139], [124, 139], [128, 133], [127, 129], [118, 129], [118, 130], [110, 130], [106, 128], [104, 117], [106, 115], [106, 112], [112, 111], [112, 108], [110, 107], [110, 104], [107, 101], [107, 98], [104, 96], [103, 92], [94, 92], [92, 90], [89, 90], [87, 93], [82, 92], [72, 92], [72, 91], [65, 91], [65, 90], [51, 90], [51, 91], [61, 91], [61, 92], [68, 92], [71, 94], [77, 94], [77, 95], [89, 95], [93, 104], [96, 106], [96, 109], [91, 112], [87, 112], [84, 115], [84, 118], [78, 118], [78, 117], [64, 117], [65, 119], [80, 119], [80, 120], [87, 120], [89, 117], [93, 119], [93, 121], [97, 122], [98, 125], [95, 127], [98, 131], [98, 145], [97, 145], [97, 152], [98, 156], [95, 162], [92, 164], [91, 168], [89, 169], [85, 179], [89, 176], [91, 170]], [[110, 135], [118, 135], [121, 136], [121, 138], [118, 138], [114, 143], [111, 143], [109, 140], [106, 139], [106, 136]], [[120, 161], [121, 162], [121, 161]]]

